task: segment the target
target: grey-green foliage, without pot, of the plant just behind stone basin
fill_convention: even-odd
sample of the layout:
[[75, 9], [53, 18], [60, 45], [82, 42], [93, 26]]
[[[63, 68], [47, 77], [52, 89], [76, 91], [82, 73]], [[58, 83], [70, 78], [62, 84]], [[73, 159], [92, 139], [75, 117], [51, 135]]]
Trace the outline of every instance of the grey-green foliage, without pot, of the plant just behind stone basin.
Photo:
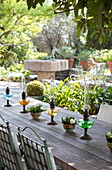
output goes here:
[[75, 49], [71, 47], [62, 46], [55, 50], [55, 56], [57, 59], [66, 59], [66, 58], [73, 58], [76, 53]]

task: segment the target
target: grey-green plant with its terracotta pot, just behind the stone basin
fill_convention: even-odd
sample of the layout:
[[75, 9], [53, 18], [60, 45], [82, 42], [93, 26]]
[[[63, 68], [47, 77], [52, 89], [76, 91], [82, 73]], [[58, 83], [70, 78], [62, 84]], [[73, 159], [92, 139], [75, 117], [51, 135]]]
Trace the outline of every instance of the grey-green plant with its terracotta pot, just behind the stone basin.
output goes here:
[[65, 59], [68, 60], [69, 68], [72, 67], [74, 63], [74, 55], [76, 50], [71, 47], [62, 46], [55, 51], [55, 56], [57, 59]]

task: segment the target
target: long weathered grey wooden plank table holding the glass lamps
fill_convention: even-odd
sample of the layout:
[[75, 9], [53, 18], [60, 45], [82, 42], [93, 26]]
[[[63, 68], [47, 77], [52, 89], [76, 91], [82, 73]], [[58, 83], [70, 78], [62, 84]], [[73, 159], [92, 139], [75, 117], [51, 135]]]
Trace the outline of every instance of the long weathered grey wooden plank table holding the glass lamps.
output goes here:
[[[64, 170], [112, 170], [112, 152], [106, 145], [105, 134], [112, 129], [112, 124], [94, 120], [94, 126], [88, 130], [92, 140], [81, 140], [84, 130], [78, 125], [74, 132], [66, 132], [61, 123], [62, 116], [75, 116], [77, 119], [82, 115], [59, 108], [59, 114], [55, 116], [58, 125], [47, 125], [50, 116], [45, 112], [38, 121], [32, 119], [30, 113], [22, 114], [22, 106], [18, 103], [20, 95], [14, 95], [10, 103], [12, 107], [4, 107], [6, 101], [0, 96], [0, 114], [11, 123], [11, 128], [17, 132], [17, 126], [30, 126], [44, 139], [47, 139], [56, 163]], [[43, 104], [48, 108], [49, 104], [31, 98], [30, 105]], [[27, 105], [28, 107], [28, 105]], [[32, 132], [27, 135], [36, 139]]]

